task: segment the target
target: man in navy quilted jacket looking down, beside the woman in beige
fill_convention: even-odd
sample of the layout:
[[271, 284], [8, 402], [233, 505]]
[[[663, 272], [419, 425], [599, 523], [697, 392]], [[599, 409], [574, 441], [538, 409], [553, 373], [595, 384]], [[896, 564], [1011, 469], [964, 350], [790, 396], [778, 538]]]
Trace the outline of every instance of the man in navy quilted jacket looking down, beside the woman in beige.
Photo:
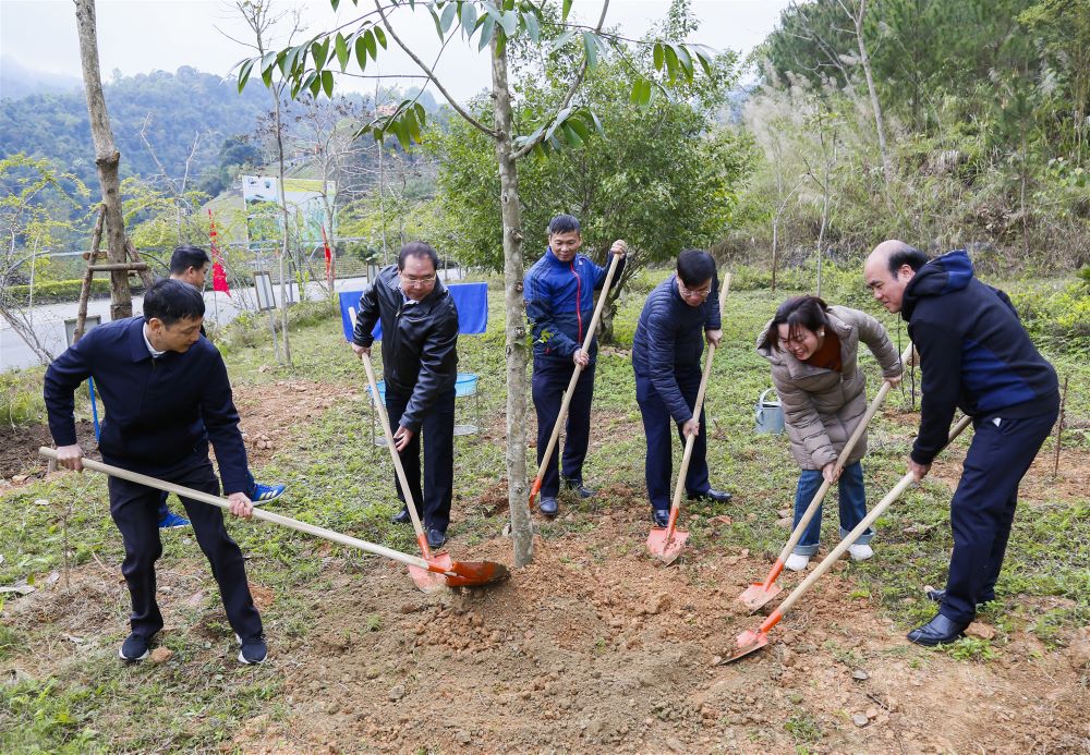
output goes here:
[[678, 256], [677, 273], [647, 296], [632, 342], [635, 400], [647, 436], [644, 473], [655, 526], [665, 527], [670, 515], [670, 477], [676, 425], [681, 442], [694, 435], [685, 489], [690, 500], [730, 500], [729, 492], [712, 488], [707, 478], [707, 442], [704, 412], [694, 417], [692, 406], [700, 389], [700, 357], [704, 341], [719, 345], [719, 283], [715, 260], [707, 252], [686, 249]]

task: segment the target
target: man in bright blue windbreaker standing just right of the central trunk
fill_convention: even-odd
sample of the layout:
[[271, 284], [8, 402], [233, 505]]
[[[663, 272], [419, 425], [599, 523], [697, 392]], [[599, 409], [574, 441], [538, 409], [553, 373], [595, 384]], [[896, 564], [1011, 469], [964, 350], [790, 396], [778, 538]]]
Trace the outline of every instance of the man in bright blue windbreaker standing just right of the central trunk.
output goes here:
[[[594, 495], [583, 485], [583, 460], [591, 435], [591, 401], [594, 395], [594, 357], [597, 342], [591, 342], [590, 353], [583, 351], [586, 328], [594, 316], [594, 291], [605, 283], [606, 269], [579, 254], [583, 245], [579, 221], [570, 215], [558, 215], [548, 224], [548, 248], [526, 271], [523, 296], [526, 317], [534, 334], [533, 399], [537, 412], [537, 464], [545, 455], [556, 419], [560, 416], [564, 391], [576, 365], [583, 372], [568, 405], [565, 426], [564, 477], [580, 498]], [[614, 242], [609, 249], [620, 257], [614, 273], [614, 285], [620, 280], [628, 246]], [[557, 452], [554, 448], [542, 478], [541, 511], [556, 516], [556, 497], [560, 491], [557, 474]]]

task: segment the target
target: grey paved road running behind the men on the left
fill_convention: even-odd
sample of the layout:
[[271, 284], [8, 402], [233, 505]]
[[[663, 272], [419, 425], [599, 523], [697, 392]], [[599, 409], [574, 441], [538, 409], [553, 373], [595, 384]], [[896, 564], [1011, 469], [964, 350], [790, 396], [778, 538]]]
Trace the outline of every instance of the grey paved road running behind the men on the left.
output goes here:
[[[448, 275], [449, 280], [458, 280], [460, 272], [461, 270], [459, 269], [439, 271], [444, 280], [448, 279]], [[362, 291], [366, 284], [366, 278], [343, 278], [336, 282], [335, 288], [337, 291]], [[277, 302], [279, 302], [280, 287], [274, 285], [272, 288]], [[291, 290], [292, 295], [298, 301], [299, 297], [294, 295], [298, 291], [296, 287], [293, 284]], [[319, 283], [307, 283], [306, 291], [311, 299], [316, 299], [323, 294], [324, 287]], [[205, 317], [220, 325], [233, 320], [240, 309], [249, 308], [253, 310], [255, 305], [256, 299], [253, 288], [232, 289], [231, 296], [205, 291], [205, 306], [207, 307]], [[38, 338], [41, 339], [43, 344], [55, 356], [64, 351], [64, 348], [68, 345], [64, 338], [64, 320], [75, 318], [78, 308], [76, 302], [34, 307], [34, 331], [38, 333]], [[143, 310], [144, 297], [133, 296], [133, 314], [138, 315]], [[100, 316], [104, 322], [109, 320], [110, 300], [93, 299], [87, 303], [87, 314]], [[31, 348], [23, 342], [23, 339], [15, 334], [5, 321], [0, 320], [0, 372], [22, 369], [36, 364], [38, 364], [38, 358]]]

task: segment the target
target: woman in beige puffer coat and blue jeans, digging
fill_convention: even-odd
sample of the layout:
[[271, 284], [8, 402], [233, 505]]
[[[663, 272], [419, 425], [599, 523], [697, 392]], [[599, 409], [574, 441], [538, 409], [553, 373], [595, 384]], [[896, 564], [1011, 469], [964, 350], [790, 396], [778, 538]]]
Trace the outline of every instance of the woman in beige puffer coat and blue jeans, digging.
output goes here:
[[[859, 342], [874, 354], [882, 375], [896, 385], [901, 364], [885, 328], [858, 309], [828, 306], [816, 296], [784, 302], [756, 341], [758, 353], [772, 363], [772, 381], [784, 407], [784, 423], [791, 453], [802, 472], [795, 495], [795, 525], [802, 519], [823, 479], [837, 479], [836, 460], [867, 412], [862, 370], [857, 364]], [[847, 536], [867, 515], [863, 468], [864, 433], [839, 474], [837, 497], [840, 537]], [[869, 529], [848, 548], [861, 561], [873, 556]], [[788, 557], [786, 567], [806, 569], [818, 552], [821, 509]]]

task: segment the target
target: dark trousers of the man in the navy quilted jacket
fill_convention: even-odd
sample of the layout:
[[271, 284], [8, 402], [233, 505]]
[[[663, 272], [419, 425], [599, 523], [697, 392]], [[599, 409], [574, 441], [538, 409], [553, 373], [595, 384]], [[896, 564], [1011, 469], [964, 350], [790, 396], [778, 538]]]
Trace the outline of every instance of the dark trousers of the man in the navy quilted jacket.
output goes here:
[[[691, 410], [697, 404], [697, 392], [700, 390], [701, 368], [675, 372], [674, 377], [681, 389], [681, 395]], [[655, 390], [650, 377], [637, 374], [635, 401], [640, 404], [643, 415], [643, 431], [647, 436], [647, 460], [644, 463], [644, 475], [647, 482], [647, 497], [652, 509], [669, 509], [674, 489], [674, 434], [677, 433], [685, 448], [685, 436], [666, 402]], [[704, 409], [700, 410], [700, 433], [693, 440], [692, 456], [689, 459], [689, 470], [685, 476], [685, 489], [690, 496], [700, 495], [711, 489], [707, 479], [707, 428], [704, 423]]]

